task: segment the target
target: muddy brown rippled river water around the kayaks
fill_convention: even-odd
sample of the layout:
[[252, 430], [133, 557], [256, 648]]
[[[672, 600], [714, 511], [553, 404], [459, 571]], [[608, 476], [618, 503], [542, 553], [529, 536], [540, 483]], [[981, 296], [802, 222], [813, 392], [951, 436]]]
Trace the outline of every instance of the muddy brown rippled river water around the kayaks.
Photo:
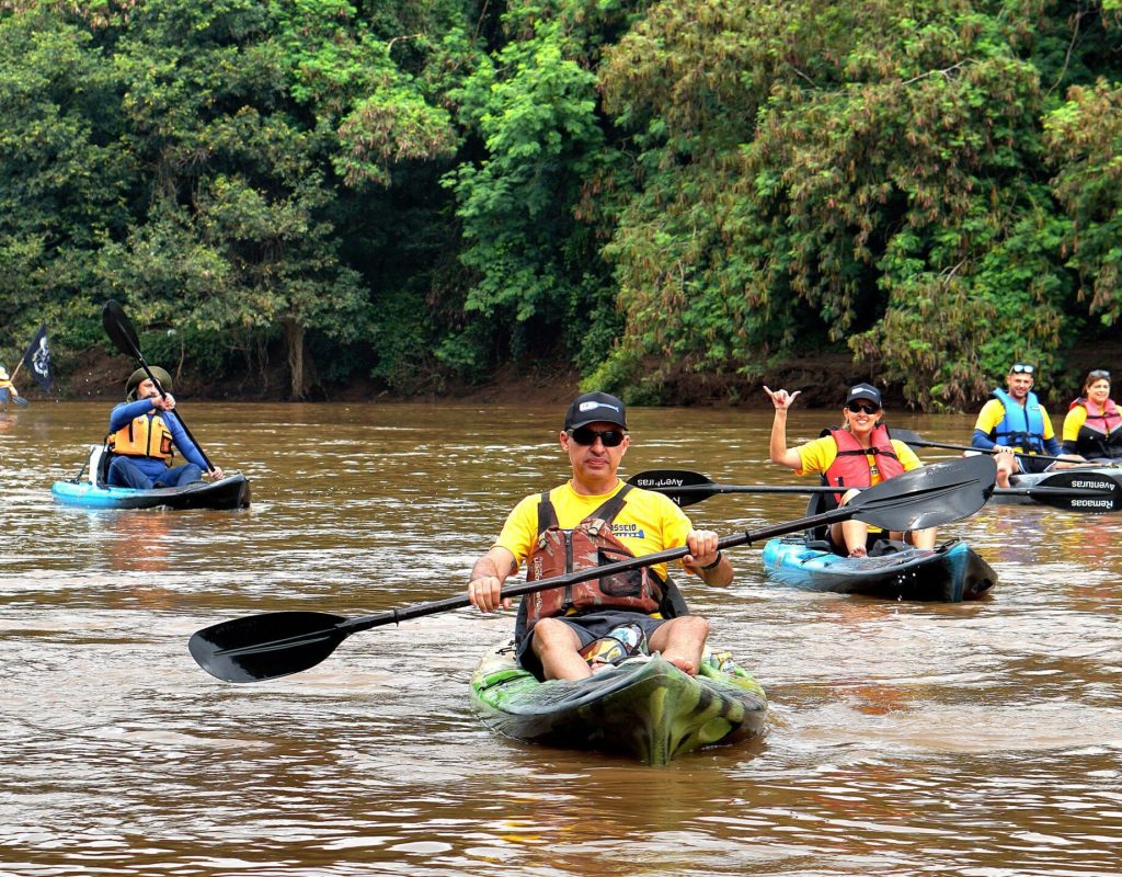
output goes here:
[[[523, 495], [565, 476], [553, 408], [182, 403], [252, 481], [241, 512], [55, 504], [108, 404], [0, 420], [4, 875], [1122, 874], [1122, 515], [986, 506], [944, 528], [999, 572], [930, 605], [688, 587], [772, 701], [769, 736], [646, 768], [495, 737], [470, 672], [511, 615], [357, 634], [314, 669], [219, 683], [199, 628], [462, 592]], [[834, 412], [791, 415], [792, 441]], [[767, 412], [634, 410], [625, 475], [765, 465]], [[971, 421], [899, 426], [962, 442]], [[935, 462], [951, 451], [926, 451]], [[791, 495], [692, 506], [721, 533]]]

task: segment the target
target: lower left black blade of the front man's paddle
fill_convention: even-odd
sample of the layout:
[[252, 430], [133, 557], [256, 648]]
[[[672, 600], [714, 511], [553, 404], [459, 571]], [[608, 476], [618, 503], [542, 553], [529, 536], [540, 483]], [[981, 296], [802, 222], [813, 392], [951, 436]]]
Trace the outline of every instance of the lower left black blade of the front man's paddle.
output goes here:
[[351, 634], [327, 612], [266, 612], [223, 621], [191, 637], [200, 667], [223, 682], [260, 682], [314, 667]]

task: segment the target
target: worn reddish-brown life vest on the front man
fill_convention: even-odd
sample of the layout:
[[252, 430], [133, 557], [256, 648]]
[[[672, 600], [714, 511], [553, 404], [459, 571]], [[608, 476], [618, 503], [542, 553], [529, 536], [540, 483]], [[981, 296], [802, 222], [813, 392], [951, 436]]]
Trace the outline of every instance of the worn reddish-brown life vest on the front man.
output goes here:
[[[631, 490], [632, 485], [625, 485], [572, 530], [558, 526], [550, 494], [543, 493], [537, 504], [537, 545], [526, 559], [526, 581], [550, 578], [634, 557], [611, 532], [611, 522], [626, 504], [625, 496]], [[642, 567], [528, 594], [518, 607], [515, 638], [521, 642], [543, 618], [579, 615], [601, 609], [655, 614], [664, 611], [669, 587], [672, 587], [668, 585], [669, 581], [663, 582], [649, 567]]]

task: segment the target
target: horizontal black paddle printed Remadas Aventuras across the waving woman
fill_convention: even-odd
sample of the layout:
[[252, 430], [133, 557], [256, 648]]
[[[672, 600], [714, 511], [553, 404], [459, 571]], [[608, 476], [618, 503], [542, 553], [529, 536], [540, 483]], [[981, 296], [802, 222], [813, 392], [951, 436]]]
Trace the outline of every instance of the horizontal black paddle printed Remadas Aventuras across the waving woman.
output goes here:
[[[895, 435], [895, 432], [893, 432]], [[837, 493], [825, 484], [716, 484], [699, 472], [651, 469], [632, 475], [628, 484], [664, 493], [683, 509], [710, 496], [727, 493]], [[994, 496], [1028, 496], [1043, 505], [1072, 512], [1116, 512], [1122, 510], [1122, 482], [1103, 473], [1061, 469], [1031, 486], [996, 487]]]

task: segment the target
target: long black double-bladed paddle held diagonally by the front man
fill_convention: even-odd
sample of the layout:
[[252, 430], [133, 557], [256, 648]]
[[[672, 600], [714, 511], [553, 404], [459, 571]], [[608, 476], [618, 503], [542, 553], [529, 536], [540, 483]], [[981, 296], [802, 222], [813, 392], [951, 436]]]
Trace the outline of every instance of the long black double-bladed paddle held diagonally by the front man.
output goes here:
[[[720, 549], [761, 542], [776, 536], [857, 518], [885, 530], [919, 530], [966, 518], [981, 509], [993, 492], [996, 466], [990, 457], [967, 457], [937, 463], [898, 475], [863, 491], [839, 509], [797, 521], [723, 537]], [[668, 548], [643, 557], [580, 569], [563, 576], [525, 582], [503, 588], [504, 597], [522, 596], [551, 587], [565, 587], [600, 576], [677, 560], [689, 548]], [[470, 605], [467, 595], [348, 619], [324, 612], [267, 612], [200, 630], [187, 647], [199, 666], [224, 682], [274, 679], [310, 669], [331, 655], [344, 639], [362, 630], [396, 624]]]

